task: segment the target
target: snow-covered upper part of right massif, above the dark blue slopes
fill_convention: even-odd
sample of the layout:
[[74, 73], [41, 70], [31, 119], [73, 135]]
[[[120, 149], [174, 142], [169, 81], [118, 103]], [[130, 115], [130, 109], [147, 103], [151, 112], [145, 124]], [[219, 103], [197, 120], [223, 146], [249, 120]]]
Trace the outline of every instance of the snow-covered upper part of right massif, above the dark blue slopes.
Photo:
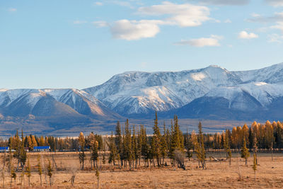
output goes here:
[[[180, 108], [203, 96], [218, 96], [244, 110], [241, 98], [263, 107], [283, 96], [283, 64], [251, 71], [228, 71], [216, 65], [185, 71], [127, 71], [100, 86], [83, 89], [122, 115]], [[246, 101], [245, 101], [246, 102]], [[235, 104], [235, 103], [233, 103]]]

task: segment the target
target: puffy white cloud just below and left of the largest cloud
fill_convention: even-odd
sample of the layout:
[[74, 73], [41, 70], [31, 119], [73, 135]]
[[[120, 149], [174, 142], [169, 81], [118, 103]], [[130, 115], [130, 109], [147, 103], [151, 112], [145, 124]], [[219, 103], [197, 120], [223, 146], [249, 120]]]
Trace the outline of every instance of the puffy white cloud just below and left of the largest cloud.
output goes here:
[[160, 29], [158, 28], [160, 21], [116, 21], [110, 27], [113, 38], [122, 40], [139, 40], [141, 38], [153, 38]]

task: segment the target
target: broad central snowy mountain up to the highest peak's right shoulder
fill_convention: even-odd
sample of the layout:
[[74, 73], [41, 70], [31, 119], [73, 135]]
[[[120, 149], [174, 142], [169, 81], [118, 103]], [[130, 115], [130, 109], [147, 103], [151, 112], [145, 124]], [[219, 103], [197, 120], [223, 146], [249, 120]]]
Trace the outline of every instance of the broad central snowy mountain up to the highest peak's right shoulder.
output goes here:
[[217, 66], [176, 72], [125, 72], [84, 91], [122, 115], [166, 111], [200, 98], [212, 88], [241, 83], [236, 74]]

